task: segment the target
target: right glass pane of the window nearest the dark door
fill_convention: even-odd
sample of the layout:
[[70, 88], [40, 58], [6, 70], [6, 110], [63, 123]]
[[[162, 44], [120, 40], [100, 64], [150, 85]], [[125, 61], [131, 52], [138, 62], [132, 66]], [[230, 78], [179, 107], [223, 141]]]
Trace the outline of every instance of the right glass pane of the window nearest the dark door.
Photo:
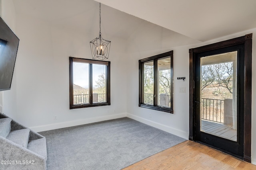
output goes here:
[[171, 58], [160, 59], [157, 61], [158, 71], [158, 105], [170, 107], [170, 87], [171, 87]]

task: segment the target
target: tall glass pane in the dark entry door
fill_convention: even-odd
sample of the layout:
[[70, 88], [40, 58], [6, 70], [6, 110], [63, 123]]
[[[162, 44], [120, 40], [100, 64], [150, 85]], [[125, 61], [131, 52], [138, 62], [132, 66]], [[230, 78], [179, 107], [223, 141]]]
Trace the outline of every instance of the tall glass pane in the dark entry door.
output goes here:
[[201, 131], [237, 141], [237, 51], [201, 58]]

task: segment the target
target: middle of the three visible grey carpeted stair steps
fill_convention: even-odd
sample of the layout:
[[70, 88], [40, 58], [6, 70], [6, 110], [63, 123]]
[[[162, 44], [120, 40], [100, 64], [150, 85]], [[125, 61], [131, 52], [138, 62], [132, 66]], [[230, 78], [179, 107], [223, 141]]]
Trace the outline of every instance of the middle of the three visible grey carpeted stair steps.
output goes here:
[[19, 129], [11, 131], [6, 139], [27, 148], [30, 129]]

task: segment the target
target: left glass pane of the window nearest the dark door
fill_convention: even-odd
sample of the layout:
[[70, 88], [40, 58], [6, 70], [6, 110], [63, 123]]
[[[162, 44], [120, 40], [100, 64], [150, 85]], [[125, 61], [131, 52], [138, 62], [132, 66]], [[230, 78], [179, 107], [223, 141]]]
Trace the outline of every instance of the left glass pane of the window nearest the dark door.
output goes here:
[[154, 62], [144, 63], [144, 103], [154, 104]]

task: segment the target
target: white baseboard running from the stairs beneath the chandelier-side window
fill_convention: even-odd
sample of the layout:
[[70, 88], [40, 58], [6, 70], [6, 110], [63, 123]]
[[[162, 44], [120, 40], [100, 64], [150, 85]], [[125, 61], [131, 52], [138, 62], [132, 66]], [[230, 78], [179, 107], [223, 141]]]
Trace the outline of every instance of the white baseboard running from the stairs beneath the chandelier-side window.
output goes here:
[[84, 125], [84, 124], [88, 124], [88, 123], [95, 123], [95, 122], [99, 122], [99, 121], [118, 119], [118, 118], [122, 118], [122, 117], [126, 117], [126, 113], [100, 116], [100, 117], [92, 117], [92, 118], [88, 118], [88, 119], [78, 119], [78, 120], [73, 120], [73, 121], [64, 121], [64, 122], [60, 122], [60, 123], [52, 123], [52, 124], [48, 124], [48, 125], [34, 126], [34, 127], [30, 127], [30, 129], [35, 132], [42, 132], [42, 131], [49, 131], [49, 130], [53, 130], [53, 129], [60, 129], [60, 128], [64, 128], [64, 127], [72, 127], [72, 126]]

